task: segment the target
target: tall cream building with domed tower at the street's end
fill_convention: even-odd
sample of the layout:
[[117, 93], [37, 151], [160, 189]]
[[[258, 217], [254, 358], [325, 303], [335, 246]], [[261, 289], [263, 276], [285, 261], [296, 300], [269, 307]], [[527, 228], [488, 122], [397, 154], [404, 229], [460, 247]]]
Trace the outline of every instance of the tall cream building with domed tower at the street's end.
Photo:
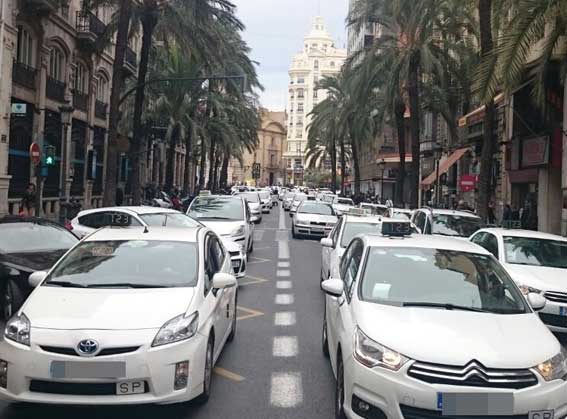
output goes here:
[[309, 113], [324, 100], [326, 92], [317, 89], [324, 76], [338, 74], [347, 52], [335, 47], [321, 17], [315, 17], [311, 31], [303, 40], [302, 51], [293, 57], [289, 69], [286, 178], [289, 183], [301, 184], [305, 166]]

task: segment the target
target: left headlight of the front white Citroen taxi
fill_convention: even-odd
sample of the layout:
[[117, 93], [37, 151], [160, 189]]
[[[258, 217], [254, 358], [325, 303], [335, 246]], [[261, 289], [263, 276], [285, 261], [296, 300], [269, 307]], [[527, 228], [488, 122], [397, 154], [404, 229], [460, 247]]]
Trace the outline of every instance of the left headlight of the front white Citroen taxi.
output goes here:
[[366, 336], [360, 329], [354, 333], [354, 359], [368, 368], [383, 367], [398, 371], [409, 358]]

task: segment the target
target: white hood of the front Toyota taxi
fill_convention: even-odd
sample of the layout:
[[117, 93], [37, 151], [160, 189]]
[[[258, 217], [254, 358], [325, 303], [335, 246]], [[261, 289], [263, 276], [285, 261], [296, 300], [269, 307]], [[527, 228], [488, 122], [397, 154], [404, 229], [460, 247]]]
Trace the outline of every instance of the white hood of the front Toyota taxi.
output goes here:
[[83, 289], [41, 286], [23, 307], [33, 328], [157, 329], [187, 311], [194, 288]]

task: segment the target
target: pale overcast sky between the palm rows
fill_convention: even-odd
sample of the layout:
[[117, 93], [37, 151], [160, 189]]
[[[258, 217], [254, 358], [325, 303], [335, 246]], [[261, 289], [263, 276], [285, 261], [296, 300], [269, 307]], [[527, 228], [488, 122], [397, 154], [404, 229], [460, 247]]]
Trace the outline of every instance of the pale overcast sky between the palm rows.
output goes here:
[[288, 70], [303, 47], [311, 19], [320, 15], [337, 47], [346, 48], [345, 18], [348, 0], [232, 0], [246, 25], [244, 39], [252, 48], [264, 92], [262, 106], [273, 111], [286, 107]]

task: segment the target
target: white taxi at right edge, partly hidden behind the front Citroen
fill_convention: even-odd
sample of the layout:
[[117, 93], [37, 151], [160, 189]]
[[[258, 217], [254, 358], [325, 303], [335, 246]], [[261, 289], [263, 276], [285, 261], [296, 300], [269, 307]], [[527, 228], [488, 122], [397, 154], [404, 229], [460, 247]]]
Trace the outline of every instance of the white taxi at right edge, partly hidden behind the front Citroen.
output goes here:
[[524, 294], [547, 300], [539, 312], [554, 332], [567, 333], [567, 238], [531, 230], [485, 228], [470, 239], [496, 257]]

